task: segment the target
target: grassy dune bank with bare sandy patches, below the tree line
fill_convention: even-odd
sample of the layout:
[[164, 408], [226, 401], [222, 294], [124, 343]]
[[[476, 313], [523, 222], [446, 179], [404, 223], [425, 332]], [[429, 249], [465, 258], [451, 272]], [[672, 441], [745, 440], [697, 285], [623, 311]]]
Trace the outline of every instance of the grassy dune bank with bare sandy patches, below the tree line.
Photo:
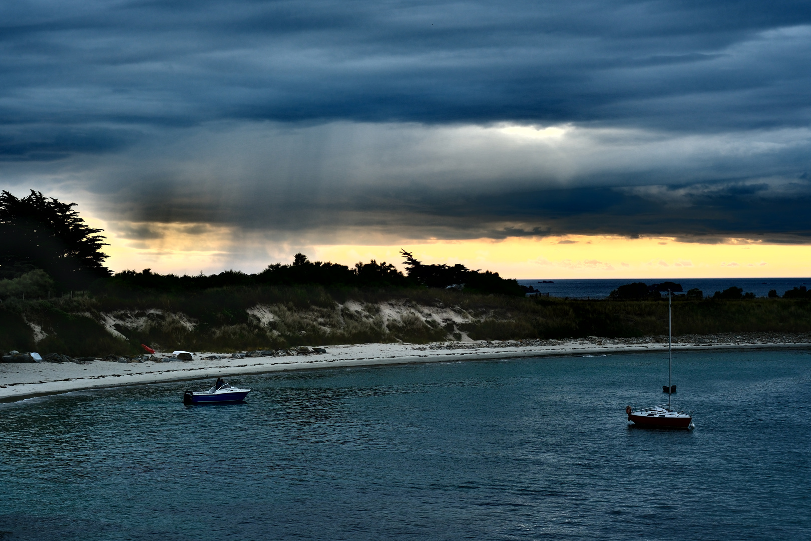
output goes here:
[[[397, 305], [395, 318], [381, 306]], [[350, 309], [350, 304], [354, 309]], [[264, 307], [264, 320], [256, 307]], [[360, 307], [360, 308], [357, 308]], [[453, 312], [454, 322], [427, 317]], [[808, 333], [805, 299], [679, 300], [673, 334]], [[667, 334], [667, 302], [517, 298], [428, 288], [238, 286], [80, 294], [0, 304], [0, 350], [71, 356], [162, 350], [272, 350], [405, 341], [645, 337]]]

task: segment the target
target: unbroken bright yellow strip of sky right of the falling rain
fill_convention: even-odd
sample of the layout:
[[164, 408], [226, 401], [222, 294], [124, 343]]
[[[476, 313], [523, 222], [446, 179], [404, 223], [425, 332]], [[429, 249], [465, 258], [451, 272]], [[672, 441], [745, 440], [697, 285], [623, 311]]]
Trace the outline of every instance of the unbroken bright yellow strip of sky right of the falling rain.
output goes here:
[[[465, 264], [514, 278], [807, 277], [811, 247], [732, 241], [679, 243], [672, 238], [569, 236], [437, 241], [402, 246], [424, 263]], [[320, 260], [398, 264], [400, 247], [320, 246]]]

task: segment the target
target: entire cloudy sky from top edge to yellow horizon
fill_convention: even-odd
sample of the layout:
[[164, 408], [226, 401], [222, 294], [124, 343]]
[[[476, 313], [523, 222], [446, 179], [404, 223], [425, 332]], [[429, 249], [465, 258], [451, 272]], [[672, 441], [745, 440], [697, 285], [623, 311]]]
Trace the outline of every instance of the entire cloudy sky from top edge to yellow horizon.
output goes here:
[[811, 276], [808, 2], [3, 2], [0, 71], [114, 270]]

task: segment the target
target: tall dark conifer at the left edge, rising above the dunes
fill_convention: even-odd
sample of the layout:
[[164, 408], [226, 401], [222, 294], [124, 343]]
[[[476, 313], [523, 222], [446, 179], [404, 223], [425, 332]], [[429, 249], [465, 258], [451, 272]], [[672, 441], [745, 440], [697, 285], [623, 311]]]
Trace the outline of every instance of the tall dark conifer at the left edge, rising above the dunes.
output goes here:
[[31, 191], [22, 199], [0, 195], [0, 277], [17, 278], [41, 268], [58, 285], [80, 289], [109, 276], [101, 251], [104, 237], [62, 203]]

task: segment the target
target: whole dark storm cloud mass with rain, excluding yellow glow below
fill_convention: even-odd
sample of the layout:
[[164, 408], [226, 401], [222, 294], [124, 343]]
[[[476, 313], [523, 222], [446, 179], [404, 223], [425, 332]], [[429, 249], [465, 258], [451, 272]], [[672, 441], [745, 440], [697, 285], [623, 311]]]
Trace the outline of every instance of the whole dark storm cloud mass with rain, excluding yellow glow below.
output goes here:
[[[68, 170], [98, 208], [144, 223], [801, 239], [809, 24], [808, 2], [6, 2], [0, 161], [16, 162], [6, 183]], [[211, 125], [264, 122], [277, 133], [336, 122], [569, 123], [605, 130], [591, 139], [603, 165], [550, 172], [554, 152], [541, 163], [533, 148], [504, 147], [509, 158], [491, 160], [504, 170], [488, 169], [453, 149], [445, 161], [421, 153], [441, 142], [332, 152], [317, 137], [270, 141], [268, 161], [261, 149], [200, 143]], [[613, 163], [614, 131], [663, 140], [659, 157]], [[676, 163], [668, 141], [695, 149], [674, 150]], [[231, 166], [174, 161], [161, 144]], [[594, 153], [564, 151], [576, 163]], [[362, 168], [350, 162], [380, 155], [399, 157], [358, 183]]]

